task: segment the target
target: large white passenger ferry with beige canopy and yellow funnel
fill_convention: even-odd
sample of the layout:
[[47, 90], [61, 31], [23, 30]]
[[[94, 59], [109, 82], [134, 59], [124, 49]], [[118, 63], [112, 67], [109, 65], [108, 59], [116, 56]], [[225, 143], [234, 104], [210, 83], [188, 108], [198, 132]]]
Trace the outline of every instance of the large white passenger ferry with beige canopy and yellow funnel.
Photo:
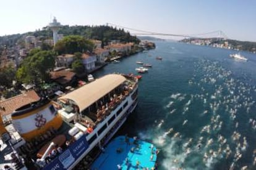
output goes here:
[[106, 75], [0, 117], [0, 169], [87, 169], [137, 106], [137, 79]]

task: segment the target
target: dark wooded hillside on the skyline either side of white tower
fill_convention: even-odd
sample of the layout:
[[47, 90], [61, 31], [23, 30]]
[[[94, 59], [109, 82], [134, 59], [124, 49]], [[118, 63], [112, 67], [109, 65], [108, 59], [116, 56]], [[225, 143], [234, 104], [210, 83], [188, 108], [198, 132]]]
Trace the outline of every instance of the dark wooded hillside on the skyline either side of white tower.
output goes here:
[[[136, 36], [130, 35], [129, 32], [124, 31], [124, 29], [117, 29], [113, 26], [82, 26], [75, 25], [62, 26], [61, 30], [59, 30], [59, 34], [63, 34], [64, 36], [69, 35], [80, 35], [87, 39], [98, 39], [103, 42], [103, 44], [107, 44], [112, 40], [117, 40], [120, 42], [134, 42], [135, 44], [139, 44], [140, 39]], [[30, 31], [28, 33], [23, 34], [12, 34], [7, 36], [0, 36], [0, 54], [4, 49], [4, 46], [8, 48], [14, 47], [15, 44], [19, 44], [21, 47], [24, 47], [24, 38], [25, 36], [35, 36], [40, 38], [41, 41], [45, 39], [52, 39], [53, 32], [48, 28], [48, 26], [43, 27], [41, 30]]]

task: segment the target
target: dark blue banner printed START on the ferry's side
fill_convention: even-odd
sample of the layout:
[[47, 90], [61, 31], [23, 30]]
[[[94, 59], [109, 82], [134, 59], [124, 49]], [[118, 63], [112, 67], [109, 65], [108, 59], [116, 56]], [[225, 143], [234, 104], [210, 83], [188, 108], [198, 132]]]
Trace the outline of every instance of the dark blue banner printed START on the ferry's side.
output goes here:
[[50, 164], [46, 165], [43, 169], [67, 169], [75, 160], [77, 160], [88, 148], [88, 142], [85, 135], [70, 145], [61, 155], [57, 156]]

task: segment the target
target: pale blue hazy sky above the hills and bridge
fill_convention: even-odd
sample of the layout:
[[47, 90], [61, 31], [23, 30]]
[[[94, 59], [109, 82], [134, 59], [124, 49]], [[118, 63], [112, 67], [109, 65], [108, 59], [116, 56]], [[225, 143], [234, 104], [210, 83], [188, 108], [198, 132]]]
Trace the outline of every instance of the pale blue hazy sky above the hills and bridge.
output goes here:
[[255, 9], [254, 0], [1, 0], [0, 36], [41, 29], [55, 16], [62, 25], [114, 23], [168, 34], [221, 30], [229, 39], [256, 41]]

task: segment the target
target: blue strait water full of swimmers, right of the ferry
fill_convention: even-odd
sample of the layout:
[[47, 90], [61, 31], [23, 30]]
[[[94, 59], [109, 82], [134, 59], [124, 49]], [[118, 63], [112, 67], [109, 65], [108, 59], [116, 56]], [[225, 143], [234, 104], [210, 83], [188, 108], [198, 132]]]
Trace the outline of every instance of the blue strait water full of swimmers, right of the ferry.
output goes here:
[[[177, 42], [109, 63], [95, 73], [136, 73], [139, 105], [119, 134], [139, 136], [160, 148], [160, 169], [256, 169], [256, 55]], [[156, 56], [163, 60], [156, 60]]]

